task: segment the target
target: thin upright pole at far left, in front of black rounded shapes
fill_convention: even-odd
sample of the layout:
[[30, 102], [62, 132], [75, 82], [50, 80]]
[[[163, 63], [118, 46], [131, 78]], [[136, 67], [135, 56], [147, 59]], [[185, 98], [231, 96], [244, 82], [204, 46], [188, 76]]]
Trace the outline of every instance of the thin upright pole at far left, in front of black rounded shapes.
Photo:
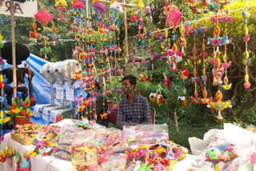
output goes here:
[[14, 97], [17, 97], [17, 78], [16, 78], [16, 48], [15, 48], [15, 26], [14, 26], [14, 2], [10, 1], [10, 29], [11, 29], [11, 45], [13, 59], [13, 84]]

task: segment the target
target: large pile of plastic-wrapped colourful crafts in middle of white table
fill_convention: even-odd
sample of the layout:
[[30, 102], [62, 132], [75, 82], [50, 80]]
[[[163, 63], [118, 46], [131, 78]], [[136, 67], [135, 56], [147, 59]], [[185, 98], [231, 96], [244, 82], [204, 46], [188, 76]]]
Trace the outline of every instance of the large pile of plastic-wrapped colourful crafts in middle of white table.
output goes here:
[[[86, 124], [90, 126], [85, 128]], [[61, 128], [54, 125], [37, 126], [38, 129], [33, 129], [35, 124], [25, 125], [19, 130], [27, 128], [34, 134], [58, 135], [53, 140], [33, 142], [34, 149], [23, 156], [19, 155], [18, 165], [27, 163], [27, 168], [30, 168], [30, 157], [37, 155], [71, 161], [74, 170], [172, 170], [176, 161], [182, 160], [187, 153], [184, 147], [168, 141], [166, 124], [135, 125], [122, 131], [108, 129], [83, 118], [81, 121], [70, 121], [70, 125]], [[14, 133], [17, 131], [13, 130]], [[16, 153], [14, 149], [10, 151]], [[7, 155], [3, 154], [2, 157], [5, 158], [2, 162], [6, 161]]]

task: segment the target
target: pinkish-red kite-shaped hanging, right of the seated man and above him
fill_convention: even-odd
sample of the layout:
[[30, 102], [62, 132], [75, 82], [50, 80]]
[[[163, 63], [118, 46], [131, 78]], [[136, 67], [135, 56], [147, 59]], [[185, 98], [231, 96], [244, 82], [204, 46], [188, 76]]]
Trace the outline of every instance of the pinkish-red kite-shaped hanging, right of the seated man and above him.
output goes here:
[[170, 11], [167, 13], [166, 26], [170, 26], [175, 30], [181, 18], [182, 12], [180, 12], [176, 6], [170, 6]]

